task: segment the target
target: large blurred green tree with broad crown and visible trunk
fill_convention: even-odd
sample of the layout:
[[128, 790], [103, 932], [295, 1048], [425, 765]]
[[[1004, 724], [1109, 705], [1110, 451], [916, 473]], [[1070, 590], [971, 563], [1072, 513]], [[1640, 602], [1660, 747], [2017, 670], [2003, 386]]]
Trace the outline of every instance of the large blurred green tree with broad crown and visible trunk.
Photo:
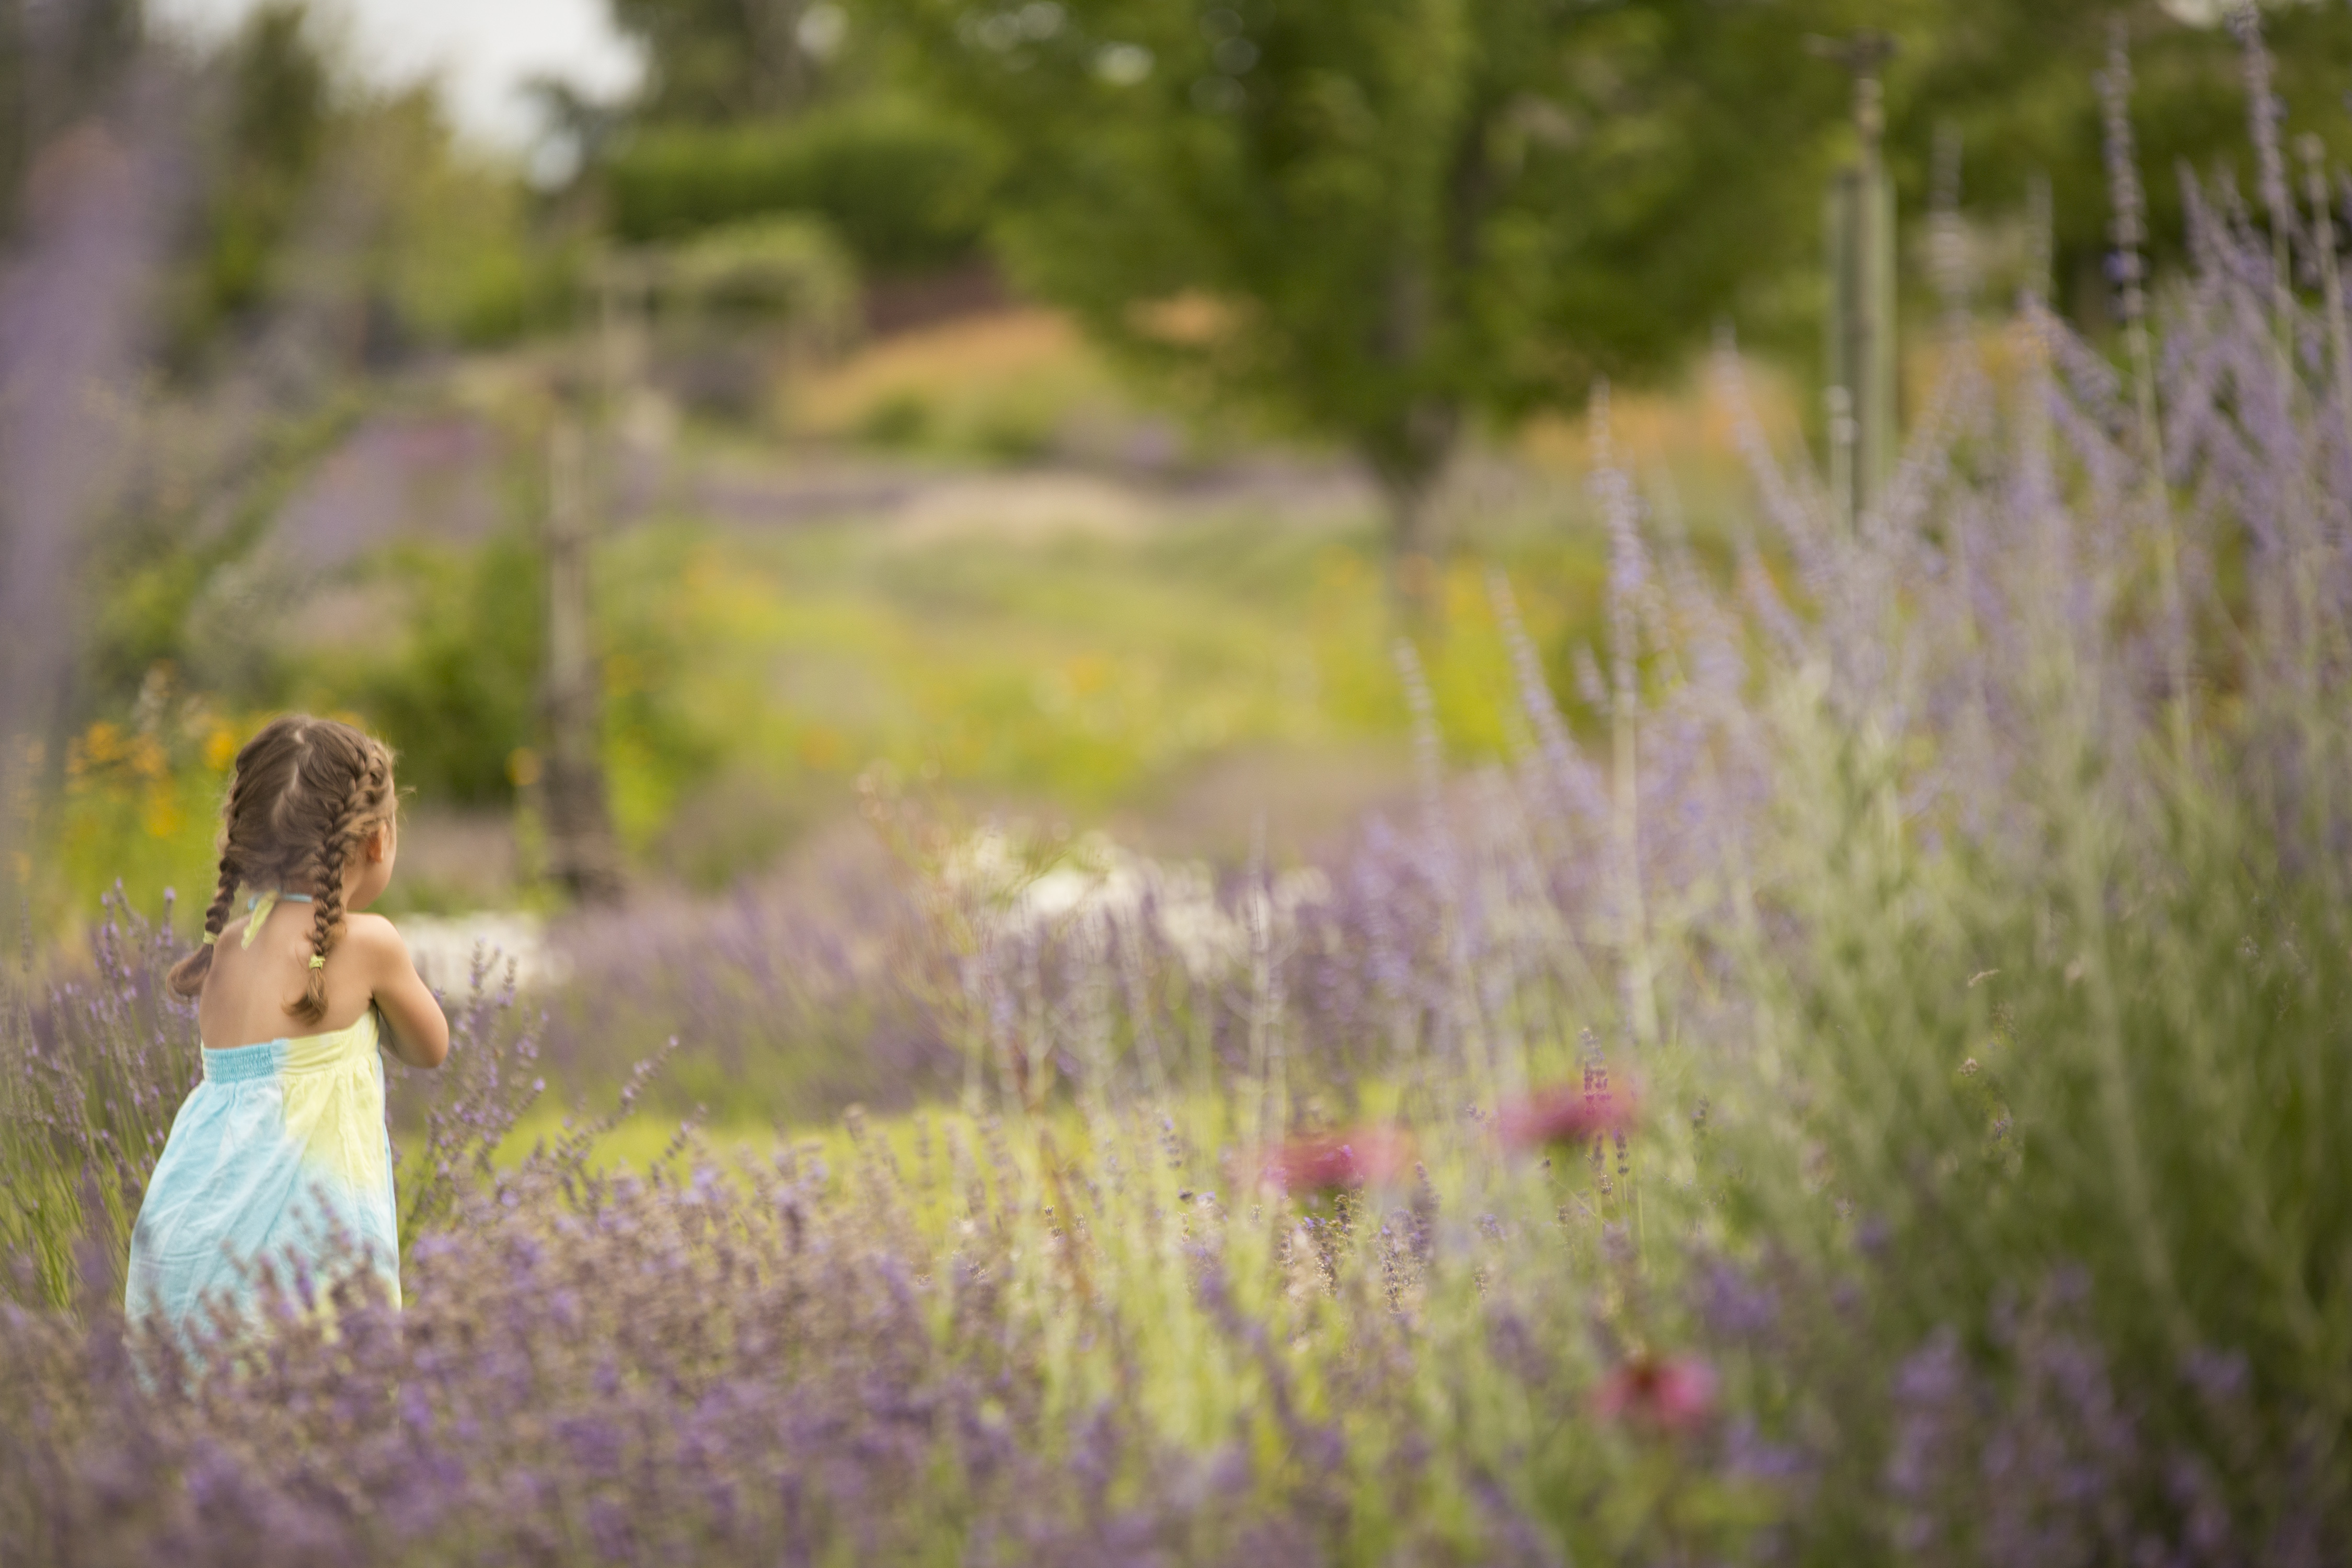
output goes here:
[[[1004, 143], [1016, 273], [1338, 437], [1411, 602], [1465, 425], [1672, 364], [1818, 242], [1837, 0], [880, 0]], [[1755, 301], [1748, 301], [1755, 303]]]

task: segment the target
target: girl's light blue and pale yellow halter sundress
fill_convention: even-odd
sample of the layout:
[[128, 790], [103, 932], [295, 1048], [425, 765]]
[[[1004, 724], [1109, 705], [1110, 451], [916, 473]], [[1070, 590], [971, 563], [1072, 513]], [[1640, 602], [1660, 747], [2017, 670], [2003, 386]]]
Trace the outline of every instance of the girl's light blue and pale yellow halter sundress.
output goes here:
[[379, 1027], [369, 1009], [332, 1034], [205, 1051], [205, 1079], [172, 1119], [139, 1204], [132, 1316], [162, 1314], [191, 1331], [214, 1300], [242, 1312], [259, 1265], [280, 1284], [308, 1272], [318, 1286], [365, 1267], [400, 1305]]

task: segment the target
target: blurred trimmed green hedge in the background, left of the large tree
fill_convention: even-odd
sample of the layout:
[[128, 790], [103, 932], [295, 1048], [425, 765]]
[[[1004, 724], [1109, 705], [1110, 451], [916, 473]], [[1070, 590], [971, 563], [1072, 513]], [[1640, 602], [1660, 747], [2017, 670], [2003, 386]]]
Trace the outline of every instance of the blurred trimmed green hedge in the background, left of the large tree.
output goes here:
[[818, 214], [877, 273], [974, 254], [988, 160], [906, 101], [854, 101], [790, 122], [652, 127], [602, 169], [623, 240], [673, 240], [779, 212]]

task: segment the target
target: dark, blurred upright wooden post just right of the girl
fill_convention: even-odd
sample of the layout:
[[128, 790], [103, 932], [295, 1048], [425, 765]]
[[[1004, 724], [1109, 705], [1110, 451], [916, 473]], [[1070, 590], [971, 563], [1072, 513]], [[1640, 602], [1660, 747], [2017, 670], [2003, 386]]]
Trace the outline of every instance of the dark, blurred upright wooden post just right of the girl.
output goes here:
[[588, 442], [572, 418], [548, 433], [546, 726], [541, 790], [548, 870], [581, 903], [621, 896], [621, 851], [604, 797], [602, 686], [588, 599]]

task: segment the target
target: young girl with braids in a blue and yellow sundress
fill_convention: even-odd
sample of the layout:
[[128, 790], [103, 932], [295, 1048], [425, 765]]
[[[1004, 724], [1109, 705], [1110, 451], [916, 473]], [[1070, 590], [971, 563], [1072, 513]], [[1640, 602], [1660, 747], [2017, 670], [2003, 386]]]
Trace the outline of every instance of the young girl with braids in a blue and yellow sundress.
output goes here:
[[[195, 997], [205, 1081], [132, 1232], [127, 1307], [195, 1326], [252, 1267], [372, 1267], [400, 1305], [400, 1222], [379, 1044], [414, 1067], [449, 1020], [381, 914], [400, 846], [393, 755], [348, 724], [273, 719], [238, 752], [205, 945], [172, 969]], [[306, 1032], [289, 1034], [287, 1020]]]

